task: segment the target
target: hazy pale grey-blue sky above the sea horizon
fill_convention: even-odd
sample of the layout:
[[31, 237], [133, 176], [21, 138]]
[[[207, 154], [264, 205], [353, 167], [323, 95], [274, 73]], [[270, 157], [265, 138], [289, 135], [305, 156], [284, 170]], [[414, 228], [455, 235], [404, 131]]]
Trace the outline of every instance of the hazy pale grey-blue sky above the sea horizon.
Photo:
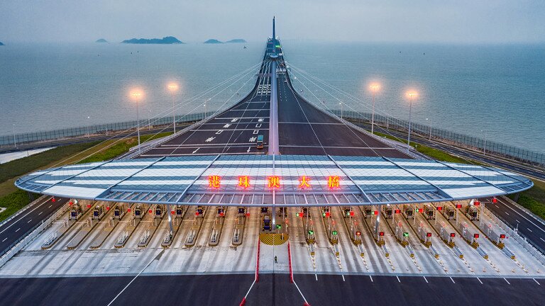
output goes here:
[[1, 0], [0, 41], [545, 42], [544, 0]]

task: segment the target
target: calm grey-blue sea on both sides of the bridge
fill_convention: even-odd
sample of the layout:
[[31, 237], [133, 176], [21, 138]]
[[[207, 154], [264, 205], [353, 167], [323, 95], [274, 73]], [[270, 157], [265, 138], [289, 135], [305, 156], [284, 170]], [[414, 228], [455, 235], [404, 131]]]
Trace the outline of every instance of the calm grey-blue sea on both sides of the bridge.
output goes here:
[[[168, 81], [177, 81], [177, 113], [235, 103], [252, 71], [183, 102], [258, 64], [264, 42], [203, 45], [8, 44], [0, 47], [0, 135], [136, 119], [128, 91], [145, 91], [141, 118], [170, 111]], [[413, 120], [545, 152], [545, 45], [395, 45], [284, 41], [298, 89], [345, 109], [368, 112], [368, 83], [380, 81], [380, 113], [408, 118], [404, 91], [416, 89]], [[363, 101], [321, 91], [302, 69]], [[316, 84], [316, 80], [313, 80]], [[244, 84], [246, 82], [246, 84]], [[304, 86], [303, 86], [304, 84]], [[323, 85], [321, 85], [324, 87]], [[224, 89], [223, 91], [221, 91]], [[221, 91], [221, 92], [219, 92]], [[305, 89], [307, 91], [307, 89]], [[306, 92], [307, 97], [314, 98]], [[89, 119], [87, 117], [90, 117]], [[428, 118], [428, 120], [426, 120]], [[483, 132], [481, 132], [483, 131]]]

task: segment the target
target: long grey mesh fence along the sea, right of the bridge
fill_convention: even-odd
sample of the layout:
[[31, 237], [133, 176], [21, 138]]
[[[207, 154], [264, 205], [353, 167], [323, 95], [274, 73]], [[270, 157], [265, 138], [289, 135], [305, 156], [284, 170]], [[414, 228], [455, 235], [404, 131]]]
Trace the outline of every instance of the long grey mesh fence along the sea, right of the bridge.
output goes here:
[[[340, 116], [341, 111], [333, 110], [333, 113]], [[371, 121], [370, 113], [358, 113], [355, 111], [343, 111], [343, 118], [352, 118], [356, 122], [369, 123]], [[407, 120], [400, 120], [385, 115], [375, 114], [375, 123], [383, 128], [407, 131], [409, 123]], [[451, 132], [449, 130], [443, 130], [440, 128], [432, 128], [429, 125], [423, 125], [420, 123], [411, 124], [412, 132], [426, 138], [434, 138], [435, 140], [443, 140], [445, 142], [451, 142], [452, 145], [458, 145], [466, 147], [468, 149], [478, 150], [485, 152], [486, 154], [494, 154], [499, 157], [507, 159], [514, 159], [518, 162], [526, 164], [532, 164], [534, 166], [545, 167], [545, 154], [539, 152], [533, 152], [528, 149], [522, 149], [510, 145], [505, 145], [499, 142], [491, 140], [483, 140], [479, 137], [473, 137], [464, 135], [457, 132]]]

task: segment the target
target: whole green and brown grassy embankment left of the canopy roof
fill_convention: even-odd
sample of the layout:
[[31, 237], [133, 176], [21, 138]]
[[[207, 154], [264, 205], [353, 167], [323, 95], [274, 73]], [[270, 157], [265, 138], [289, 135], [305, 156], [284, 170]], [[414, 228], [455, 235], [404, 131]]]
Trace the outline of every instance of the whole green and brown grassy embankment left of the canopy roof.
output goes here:
[[[159, 137], [165, 137], [172, 134], [163, 132], [158, 135], [142, 135], [141, 142], [154, 140]], [[113, 144], [111, 147], [105, 147]], [[49, 168], [59, 162], [57, 166], [77, 162], [79, 164], [86, 162], [102, 162], [128, 152], [128, 149], [138, 145], [138, 138], [131, 137], [126, 140], [108, 140], [106, 142], [87, 142], [75, 145], [57, 147], [48, 151], [16, 159], [6, 164], [0, 165], [0, 207], [6, 208], [0, 212], [0, 222], [6, 220], [13, 213], [17, 212], [29, 203], [28, 193], [13, 186], [13, 183], [19, 176], [38, 169]], [[94, 147], [97, 145], [96, 147]], [[89, 149], [91, 148], [91, 149]], [[85, 151], [87, 149], [87, 151]], [[83, 152], [85, 151], [85, 152]], [[100, 152], [99, 152], [100, 151]], [[89, 157], [90, 154], [93, 154]], [[79, 161], [79, 159], [82, 159]], [[79, 161], [79, 162], [78, 162]], [[35, 194], [38, 198], [40, 195]]]

